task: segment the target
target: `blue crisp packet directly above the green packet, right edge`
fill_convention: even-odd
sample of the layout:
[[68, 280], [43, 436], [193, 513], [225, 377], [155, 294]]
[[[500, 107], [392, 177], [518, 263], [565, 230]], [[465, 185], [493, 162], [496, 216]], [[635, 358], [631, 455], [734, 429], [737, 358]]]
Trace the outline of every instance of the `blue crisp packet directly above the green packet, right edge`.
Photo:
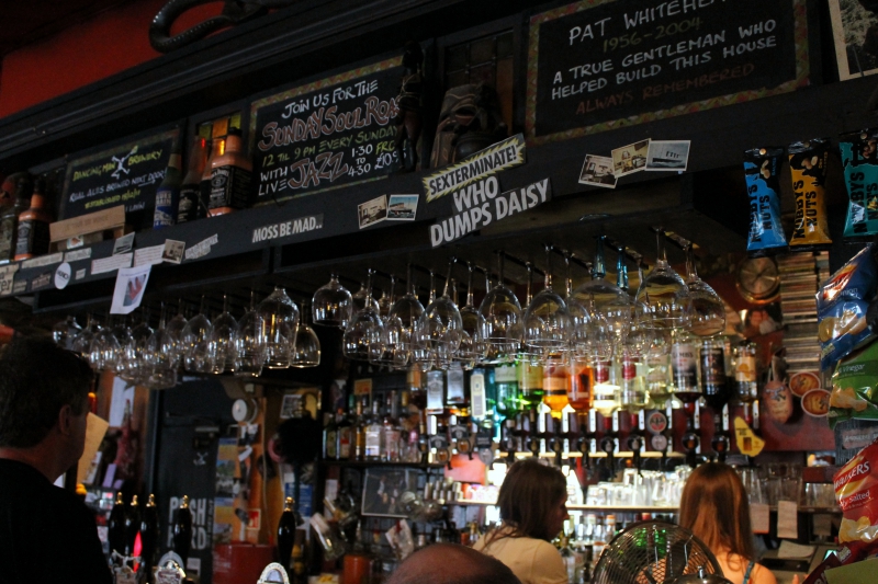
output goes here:
[[835, 365], [875, 339], [866, 312], [875, 298], [875, 245], [869, 243], [820, 286], [817, 293], [820, 365]]

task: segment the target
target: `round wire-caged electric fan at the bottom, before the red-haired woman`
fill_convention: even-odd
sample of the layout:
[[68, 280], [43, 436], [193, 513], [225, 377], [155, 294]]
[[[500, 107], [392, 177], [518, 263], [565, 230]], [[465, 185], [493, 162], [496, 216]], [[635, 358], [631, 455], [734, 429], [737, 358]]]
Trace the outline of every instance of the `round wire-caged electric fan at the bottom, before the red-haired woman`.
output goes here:
[[637, 523], [604, 549], [592, 584], [731, 584], [691, 531], [665, 522]]

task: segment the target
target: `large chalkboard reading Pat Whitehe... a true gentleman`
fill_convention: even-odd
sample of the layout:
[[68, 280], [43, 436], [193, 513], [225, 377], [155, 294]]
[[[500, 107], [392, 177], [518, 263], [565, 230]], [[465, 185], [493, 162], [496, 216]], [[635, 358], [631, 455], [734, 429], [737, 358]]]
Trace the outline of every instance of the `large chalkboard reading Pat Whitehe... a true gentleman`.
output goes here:
[[806, 0], [585, 0], [530, 20], [533, 144], [808, 84]]

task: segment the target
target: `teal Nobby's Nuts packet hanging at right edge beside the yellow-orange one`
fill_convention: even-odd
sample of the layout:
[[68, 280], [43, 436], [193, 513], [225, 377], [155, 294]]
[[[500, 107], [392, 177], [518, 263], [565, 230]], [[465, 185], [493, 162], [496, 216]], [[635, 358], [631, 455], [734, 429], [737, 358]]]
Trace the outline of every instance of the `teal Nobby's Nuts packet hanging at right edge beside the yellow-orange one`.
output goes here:
[[878, 128], [842, 134], [844, 183], [847, 186], [847, 219], [844, 237], [878, 234]]

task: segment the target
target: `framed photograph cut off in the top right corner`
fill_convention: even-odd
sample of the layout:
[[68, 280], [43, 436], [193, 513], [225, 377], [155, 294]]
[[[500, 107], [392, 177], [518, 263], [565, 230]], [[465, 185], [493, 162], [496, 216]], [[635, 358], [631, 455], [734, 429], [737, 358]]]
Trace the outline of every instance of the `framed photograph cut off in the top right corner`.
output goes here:
[[830, 0], [838, 79], [878, 72], [878, 2]]

